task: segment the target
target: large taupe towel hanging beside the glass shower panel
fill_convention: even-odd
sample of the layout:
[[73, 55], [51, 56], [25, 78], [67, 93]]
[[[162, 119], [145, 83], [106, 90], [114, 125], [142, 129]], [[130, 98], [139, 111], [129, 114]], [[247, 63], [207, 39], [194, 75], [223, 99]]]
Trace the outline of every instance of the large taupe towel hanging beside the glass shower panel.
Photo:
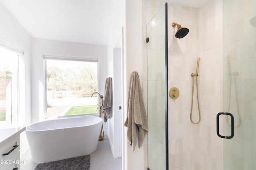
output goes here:
[[140, 78], [136, 71], [132, 72], [130, 79], [127, 107], [127, 119], [124, 126], [127, 127], [127, 138], [134, 151], [137, 143], [136, 131], [138, 131], [139, 148], [142, 146], [144, 137], [148, 133], [148, 119], [140, 86]]

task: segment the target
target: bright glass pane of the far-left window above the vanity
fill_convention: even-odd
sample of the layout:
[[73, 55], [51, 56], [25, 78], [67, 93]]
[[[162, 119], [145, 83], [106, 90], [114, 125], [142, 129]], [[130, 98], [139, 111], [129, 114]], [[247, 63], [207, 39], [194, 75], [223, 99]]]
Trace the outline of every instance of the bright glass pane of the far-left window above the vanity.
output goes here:
[[18, 121], [18, 55], [0, 48], [0, 125]]

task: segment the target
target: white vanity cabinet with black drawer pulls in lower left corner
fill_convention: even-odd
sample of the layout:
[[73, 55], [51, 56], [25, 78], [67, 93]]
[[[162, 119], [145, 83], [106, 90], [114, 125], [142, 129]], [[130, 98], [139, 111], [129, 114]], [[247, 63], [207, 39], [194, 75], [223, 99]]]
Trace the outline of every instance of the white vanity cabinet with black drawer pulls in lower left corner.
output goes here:
[[1, 135], [9, 134], [0, 140], [0, 170], [20, 170], [20, 133], [24, 130], [9, 133], [9, 129], [1, 129]]

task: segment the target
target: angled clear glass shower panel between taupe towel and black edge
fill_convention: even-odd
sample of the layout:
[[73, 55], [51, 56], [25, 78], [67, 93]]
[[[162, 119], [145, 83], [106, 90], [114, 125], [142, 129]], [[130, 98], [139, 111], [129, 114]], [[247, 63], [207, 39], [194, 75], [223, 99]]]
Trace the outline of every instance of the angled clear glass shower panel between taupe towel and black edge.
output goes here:
[[167, 4], [147, 24], [148, 168], [150, 170], [168, 168], [166, 20]]

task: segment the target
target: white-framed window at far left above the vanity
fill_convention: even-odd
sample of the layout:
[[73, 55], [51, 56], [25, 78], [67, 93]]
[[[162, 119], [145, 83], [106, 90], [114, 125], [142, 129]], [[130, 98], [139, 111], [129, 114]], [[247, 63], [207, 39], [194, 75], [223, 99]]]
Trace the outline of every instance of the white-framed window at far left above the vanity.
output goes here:
[[24, 123], [24, 56], [19, 53], [23, 51], [0, 41], [0, 127]]

